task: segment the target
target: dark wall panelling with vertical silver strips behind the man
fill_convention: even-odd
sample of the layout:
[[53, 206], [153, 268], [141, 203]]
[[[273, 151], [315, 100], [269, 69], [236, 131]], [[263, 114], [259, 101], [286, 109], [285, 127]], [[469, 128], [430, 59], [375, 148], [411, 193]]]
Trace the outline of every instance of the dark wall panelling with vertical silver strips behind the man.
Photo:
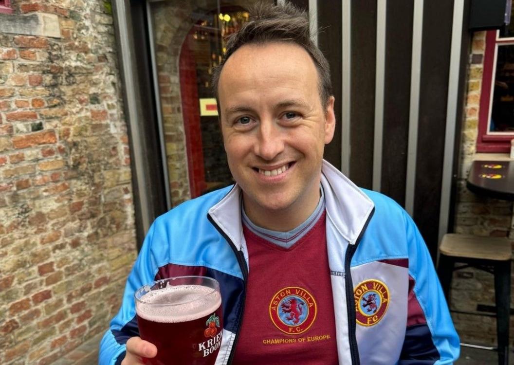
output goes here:
[[[292, 3], [309, 9], [307, 0]], [[451, 190], [457, 166], [468, 3], [318, 0], [315, 9], [338, 120], [325, 158], [405, 207], [434, 259], [451, 221], [451, 194], [442, 187]], [[452, 64], [458, 76], [450, 83]]]

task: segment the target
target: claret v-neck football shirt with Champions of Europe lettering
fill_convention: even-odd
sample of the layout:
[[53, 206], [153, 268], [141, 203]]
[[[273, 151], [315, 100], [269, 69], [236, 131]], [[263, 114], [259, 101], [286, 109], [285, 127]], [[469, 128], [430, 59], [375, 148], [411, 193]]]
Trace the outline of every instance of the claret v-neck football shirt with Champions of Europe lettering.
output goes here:
[[250, 268], [234, 364], [337, 364], [323, 196], [290, 232], [256, 227], [244, 213], [243, 223]]

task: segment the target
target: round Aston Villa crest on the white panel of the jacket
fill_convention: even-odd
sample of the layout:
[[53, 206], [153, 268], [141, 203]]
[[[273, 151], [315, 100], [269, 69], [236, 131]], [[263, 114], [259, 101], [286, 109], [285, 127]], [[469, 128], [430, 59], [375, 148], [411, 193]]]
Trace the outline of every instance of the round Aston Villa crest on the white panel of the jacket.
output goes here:
[[389, 288], [379, 280], [371, 279], [354, 288], [355, 318], [363, 326], [377, 324], [389, 306]]

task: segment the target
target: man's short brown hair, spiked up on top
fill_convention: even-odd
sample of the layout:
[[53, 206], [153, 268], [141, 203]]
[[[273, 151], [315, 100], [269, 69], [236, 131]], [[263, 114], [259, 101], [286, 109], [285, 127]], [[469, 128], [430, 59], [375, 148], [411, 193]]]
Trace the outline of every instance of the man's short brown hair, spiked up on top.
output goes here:
[[213, 69], [212, 87], [218, 101], [218, 113], [220, 111], [218, 83], [225, 62], [245, 44], [268, 42], [294, 43], [309, 53], [318, 70], [321, 104], [326, 106], [328, 98], [332, 95], [330, 66], [323, 53], [310, 39], [309, 20], [306, 12], [289, 3], [285, 5], [258, 3], [250, 8], [249, 13], [248, 22], [239, 31], [229, 36], [225, 56], [222, 62]]

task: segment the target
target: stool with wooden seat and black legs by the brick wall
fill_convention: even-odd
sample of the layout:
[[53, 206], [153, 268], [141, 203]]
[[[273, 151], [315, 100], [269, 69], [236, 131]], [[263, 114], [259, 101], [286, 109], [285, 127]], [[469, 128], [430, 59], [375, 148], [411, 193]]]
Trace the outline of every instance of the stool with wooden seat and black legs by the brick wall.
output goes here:
[[[437, 275], [448, 305], [450, 305], [450, 284], [454, 270], [472, 266], [494, 275], [498, 363], [507, 365], [510, 323], [511, 242], [500, 237], [447, 233], [443, 236], [439, 252]], [[456, 262], [466, 265], [454, 267]]]

